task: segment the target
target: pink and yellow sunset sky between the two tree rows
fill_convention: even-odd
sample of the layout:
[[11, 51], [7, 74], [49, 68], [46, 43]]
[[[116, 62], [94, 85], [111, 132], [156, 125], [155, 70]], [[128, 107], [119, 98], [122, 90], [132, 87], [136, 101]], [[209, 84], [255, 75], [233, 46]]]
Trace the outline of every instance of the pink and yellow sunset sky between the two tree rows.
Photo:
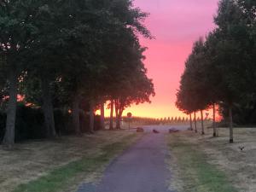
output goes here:
[[193, 42], [214, 28], [213, 16], [218, 0], [134, 0], [135, 7], [150, 13], [145, 25], [155, 39], [141, 39], [148, 47], [145, 65], [154, 79], [156, 96], [151, 104], [125, 110], [135, 116], [183, 116], [175, 108], [176, 90], [183, 73], [184, 61]]

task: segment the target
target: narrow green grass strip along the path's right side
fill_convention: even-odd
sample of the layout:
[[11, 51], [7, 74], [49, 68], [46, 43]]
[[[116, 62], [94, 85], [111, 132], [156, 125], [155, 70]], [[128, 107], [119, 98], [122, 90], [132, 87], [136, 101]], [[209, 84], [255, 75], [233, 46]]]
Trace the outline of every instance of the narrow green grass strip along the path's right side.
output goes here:
[[179, 137], [172, 137], [170, 148], [172, 155], [177, 158], [183, 192], [237, 191], [224, 172], [207, 162], [207, 155], [197, 144], [182, 141]]

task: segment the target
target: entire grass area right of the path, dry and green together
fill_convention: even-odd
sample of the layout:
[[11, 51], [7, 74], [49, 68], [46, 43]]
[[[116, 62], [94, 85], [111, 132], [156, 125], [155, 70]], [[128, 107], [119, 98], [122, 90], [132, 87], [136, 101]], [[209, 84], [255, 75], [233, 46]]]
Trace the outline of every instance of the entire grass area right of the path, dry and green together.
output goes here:
[[[229, 143], [229, 130], [212, 130], [201, 136], [185, 131], [166, 136], [172, 157], [171, 189], [178, 192], [255, 192], [256, 129], [236, 128], [235, 143]], [[242, 151], [240, 147], [245, 147]]]

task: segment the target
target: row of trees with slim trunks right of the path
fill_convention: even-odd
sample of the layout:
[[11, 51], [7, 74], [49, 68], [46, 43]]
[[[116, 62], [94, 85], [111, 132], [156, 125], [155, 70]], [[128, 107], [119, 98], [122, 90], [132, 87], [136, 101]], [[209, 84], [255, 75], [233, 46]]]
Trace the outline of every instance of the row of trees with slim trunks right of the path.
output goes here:
[[[230, 143], [233, 143], [232, 109], [241, 100], [255, 98], [256, 75], [256, 2], [253, 0], [222, 0], [216, 28], [206, 39], [195, 42], [185, 64], [177, 91], [177, 108], [190, 114], [213, 108], [227, 111], [230, 121]], [[224, 110], [223, 110], [224, 109]]]

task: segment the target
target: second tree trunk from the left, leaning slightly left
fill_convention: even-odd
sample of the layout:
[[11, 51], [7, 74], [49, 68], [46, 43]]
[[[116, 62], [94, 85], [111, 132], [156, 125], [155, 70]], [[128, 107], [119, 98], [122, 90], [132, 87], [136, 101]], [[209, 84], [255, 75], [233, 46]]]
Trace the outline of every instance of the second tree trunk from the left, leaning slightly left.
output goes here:
[[42, 92], [43, 92], [43, 110], [44, 110], [44, 125], [47, 131], [48, 138], [54, 138], [56, 136], [55, 131], [55, 117], [54, 109], [51, 100], [49, 79], [43, 77], [41, 79]]

